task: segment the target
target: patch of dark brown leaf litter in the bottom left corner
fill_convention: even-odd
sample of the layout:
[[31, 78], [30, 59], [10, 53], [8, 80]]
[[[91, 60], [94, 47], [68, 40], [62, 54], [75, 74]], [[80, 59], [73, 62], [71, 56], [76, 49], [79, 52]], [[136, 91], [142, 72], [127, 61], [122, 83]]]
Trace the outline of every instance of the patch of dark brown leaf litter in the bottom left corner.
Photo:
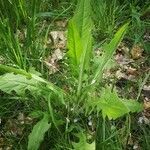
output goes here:
[[[0, 150], [12, 150], [13, 139], [22, 138], [24, 136], [25, 126], [31, 125], [33, 119], [19, 112], [17, 118], [1, 119], [0, 126]], [[11, 139], [11, 138], [12, 139]]]

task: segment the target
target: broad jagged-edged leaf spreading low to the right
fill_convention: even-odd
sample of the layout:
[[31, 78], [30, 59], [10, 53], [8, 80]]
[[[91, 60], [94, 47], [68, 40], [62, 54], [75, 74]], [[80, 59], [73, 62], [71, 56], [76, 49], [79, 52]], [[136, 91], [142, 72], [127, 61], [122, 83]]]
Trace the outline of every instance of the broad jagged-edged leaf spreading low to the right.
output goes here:
[[139, 112], [142, 105], [134, 100], [125, 100], [118, 97], [117, 92], [111, 92], [110, 88], [102, 90], [101, 97], [88, 102], [87, 110], [102, 111], [103, 118], [117, 119], [129, 112]]

